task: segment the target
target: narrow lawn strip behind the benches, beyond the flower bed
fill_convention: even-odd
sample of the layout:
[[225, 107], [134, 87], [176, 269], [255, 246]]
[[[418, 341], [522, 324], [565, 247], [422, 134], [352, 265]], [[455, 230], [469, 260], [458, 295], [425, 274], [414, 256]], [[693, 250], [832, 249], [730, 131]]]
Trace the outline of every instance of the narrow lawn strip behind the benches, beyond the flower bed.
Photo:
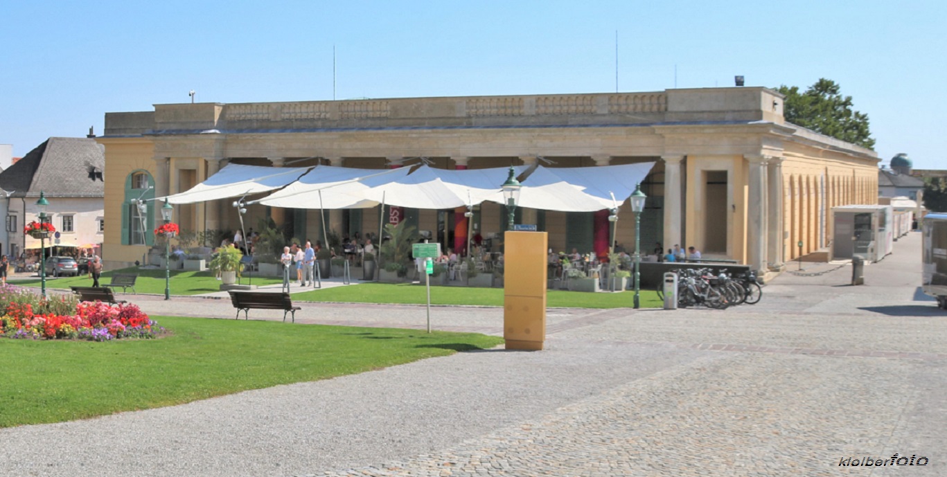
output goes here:
[[[134, 284], [135, 291], [139, 293], [164, 294], [165, 292], [165, 271], [158, 269], [141, 270], [137, 267], [114, 270], [105, 272], [99, 278], [99, 283], [108, 283], [112, 274], [137, 274], [138, 280]], [[171, 271], [170, 273], [170, 291], [172, 295], [192, 295], [200, 293], [210, 293], [221, 291], [221, 282], [214, 277], [211, 272], [183, 272]], [[39, 278], [29, 278], [27, 280], [10, 280], [10, 283], [22, 287], [39, 287]], [[243, 277], [243, 283], [247, 283], [247, 277]], [[272, 285], [282, 283], [281, 278], [253, 277], [254, 285]], [[62, 278], [46, 278], [46, 288], [68, 289], [69, 287], [91, 287], [92, 278], [88, 275]], [[120, 289], [119, 289], [120, 290]]]

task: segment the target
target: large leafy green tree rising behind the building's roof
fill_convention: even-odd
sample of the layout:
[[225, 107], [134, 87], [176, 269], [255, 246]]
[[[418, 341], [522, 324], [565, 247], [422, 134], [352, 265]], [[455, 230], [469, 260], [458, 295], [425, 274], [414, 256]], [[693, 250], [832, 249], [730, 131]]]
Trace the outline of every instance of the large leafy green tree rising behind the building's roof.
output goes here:
[[786, 120], [814, 132], [874, 149], [875, 140], [868, 128], [868, 115], [851, 108], [851, 97], [842, 96], [841, 87], [831, 79], [820, 78], [805, 92], [798, 86], [779, 86], [786, 96], [783, 115]]

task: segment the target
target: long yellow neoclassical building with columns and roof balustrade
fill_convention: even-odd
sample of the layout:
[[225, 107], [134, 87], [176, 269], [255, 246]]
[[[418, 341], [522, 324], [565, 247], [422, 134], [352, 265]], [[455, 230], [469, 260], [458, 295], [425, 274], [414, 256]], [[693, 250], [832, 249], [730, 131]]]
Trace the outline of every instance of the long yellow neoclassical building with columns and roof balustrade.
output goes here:
[[[785, 260], [828, 245], [832, 206], [876, 203], [878, 196], [877, 154], [786, 123], [782, 100], [766, 88], [735, 87], [158, 104], [150, 112], [109, 113], [98, 137], [108, 171], [105, 219], [121, 227], [106, 230], [104, 259], [110, 266], [130, 264], [150, 243], [135, 232], [140, 225], [134, 224], [131, 199], [187, 190], [228, 163], [382, 169], [423, 158], [435, 168], [655, 162], [642, 184], [649, 197], [641, 216], [643, 252], [651, 253], [655, 242], [665, 249], [693, 245], [704, 256], [779, 270]], [[231, 202], [177, 205], [175, 221], [191, 230], [235, 230]], [[252, 206], [247, 226], [272, 217], [299, 239], [317, 239], [323, 218], [313, 208]], [[147, 227], [160, 220], [156, 212], [149, 207]], [[376, 207], [326, 211], [325, 221], [340, 234], [364, 235], [377, 233], [381, 213], [384, 221], [409, 221], [430, 231], [446, 248], [459, 243], [462, 212]], [[501, 205], [484, 203], [475, 212], [474, 228], [482, 237], [506, 227]], [[548, 231], [557, 250], [601, 253], [592, 250], [594, 238], [610, 233], [607, 211], [527, 209], [517, 215], [518, 222]], [[628, 203], [618, 216], [615, 239], [630, 249], [634, 216]]]

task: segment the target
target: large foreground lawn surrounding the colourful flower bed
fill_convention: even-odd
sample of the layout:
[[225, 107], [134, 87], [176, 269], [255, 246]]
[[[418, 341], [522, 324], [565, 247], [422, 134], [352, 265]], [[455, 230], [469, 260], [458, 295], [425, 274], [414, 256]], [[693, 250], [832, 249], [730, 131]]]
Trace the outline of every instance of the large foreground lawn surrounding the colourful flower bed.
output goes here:
[[111, 343], [0, 339], [0, 428], [180, 404], [324, 380], [498, 337], [391, 328], [153, 317], [173, 334]]

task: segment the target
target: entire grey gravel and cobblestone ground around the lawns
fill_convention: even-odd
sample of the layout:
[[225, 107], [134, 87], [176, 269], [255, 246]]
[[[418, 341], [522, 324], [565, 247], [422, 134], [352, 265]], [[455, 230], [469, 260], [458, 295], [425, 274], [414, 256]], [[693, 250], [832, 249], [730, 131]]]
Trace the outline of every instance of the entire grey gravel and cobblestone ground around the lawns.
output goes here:
[[[919, 243], [900, 240], [864, 287], [842, 268], [783, 274], [755, 307], [554, 309], [542, 352], [3, 429], [0, 475], [947, 475], [947, 315], [917, 293]], [[233, 317], [219, 300], [135, 302]], [[424, 326], [418, 307], [305, 307], [304, 323]], [[432, 317], [502, 327], [500, 309]], [[929, 465], [838, 466], [895, 452]]]

